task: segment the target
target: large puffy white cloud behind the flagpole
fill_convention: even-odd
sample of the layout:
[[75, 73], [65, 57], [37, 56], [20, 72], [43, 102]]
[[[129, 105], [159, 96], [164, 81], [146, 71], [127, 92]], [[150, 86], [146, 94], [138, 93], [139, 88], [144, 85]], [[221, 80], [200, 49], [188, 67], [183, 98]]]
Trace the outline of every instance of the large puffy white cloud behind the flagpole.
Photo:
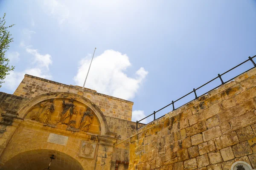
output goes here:
[[[80, 66], [74, 77], [77, 85], [84, 84], [90, 60], [91, 57], [86, 57], [79, 62]], [[132, 99], [148, 72], [140, 68], [135, 74], [136, 78], [131, 78], [125, 74], [129, 66], [131, 63], [126, 54], [106, 50], [93, 59], [85, 87], [122, 99]]]

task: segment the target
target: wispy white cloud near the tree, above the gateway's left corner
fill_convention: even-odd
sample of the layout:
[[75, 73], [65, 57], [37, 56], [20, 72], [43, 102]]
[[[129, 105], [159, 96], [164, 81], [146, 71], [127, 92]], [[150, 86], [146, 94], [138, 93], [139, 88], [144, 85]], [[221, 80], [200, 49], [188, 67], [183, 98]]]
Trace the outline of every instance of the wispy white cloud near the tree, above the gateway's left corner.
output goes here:
[[29, 54], [32, 54], [31, 60], [34, 60], [34, 62], [31, 63], [30, 68], [27, 68], [24, 71], [10, 71], [10, 74], [4, 79], [5, 82], [2, 84], [2, 88], [14, 91], [25, 74], [31, 74], [45, 79], [52, 78], [49, 73], [49, 65], [52, 64], [51, 56], [49, 54], [39, 54], [37, 49], [32, 49], [30, 46], [26, 47], [26, 51]]

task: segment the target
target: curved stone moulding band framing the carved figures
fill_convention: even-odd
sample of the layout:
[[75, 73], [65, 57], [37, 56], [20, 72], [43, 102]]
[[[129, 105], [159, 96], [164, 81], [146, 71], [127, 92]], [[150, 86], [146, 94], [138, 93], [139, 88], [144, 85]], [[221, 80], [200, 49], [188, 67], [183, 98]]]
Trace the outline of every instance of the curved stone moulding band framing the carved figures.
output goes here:
[[50, 101], [50, 99], [66, 99], [70, 100], [73, 99], [74, 101], [80, 102], [86, 105], [90, 110], [95, 113], [97, 118], [99, 119], [100, 125], [100, 135], [106, 135], [108, 133], [108, 125], [103, 115], [102, 111], [96, 106], [93, 102], [89, 99], [85, 98], [84, 96], [80, 96], [78, 94], [68, 93], [68, 92], [53, 92], [48, 94], [42, 94], [40, 96], [36, 96], [35, 98], [29, 100], [26, 104], [24, 104], [18, 111], [18, 115], [20, 118], [24, 119], [27, 113], [38, 103], [44, 102], [46, 100]]

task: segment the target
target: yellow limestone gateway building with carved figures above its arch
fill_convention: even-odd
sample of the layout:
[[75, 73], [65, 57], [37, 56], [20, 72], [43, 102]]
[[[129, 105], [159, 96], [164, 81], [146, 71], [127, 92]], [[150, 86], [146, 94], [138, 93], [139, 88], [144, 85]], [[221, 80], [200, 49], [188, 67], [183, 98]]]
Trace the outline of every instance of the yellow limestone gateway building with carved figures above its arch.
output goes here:
[[[0, 93], [0, 169], [110, 170], [128, 161], [132, 102], [25, 75]], [[128, 169], [120, 165], [119, 169]]]

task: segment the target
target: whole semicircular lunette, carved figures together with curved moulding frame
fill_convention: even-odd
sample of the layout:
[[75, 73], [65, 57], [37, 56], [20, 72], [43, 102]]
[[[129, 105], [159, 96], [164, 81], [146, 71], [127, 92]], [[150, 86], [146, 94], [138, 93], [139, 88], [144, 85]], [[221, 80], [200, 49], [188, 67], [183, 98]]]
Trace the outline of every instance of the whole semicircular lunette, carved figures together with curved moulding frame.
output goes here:
[[67, 92], [43, 94], [31, 99], [19, 117], [52, 127], [104, 135], [108, 132], [105, 116], [89, 99]]

